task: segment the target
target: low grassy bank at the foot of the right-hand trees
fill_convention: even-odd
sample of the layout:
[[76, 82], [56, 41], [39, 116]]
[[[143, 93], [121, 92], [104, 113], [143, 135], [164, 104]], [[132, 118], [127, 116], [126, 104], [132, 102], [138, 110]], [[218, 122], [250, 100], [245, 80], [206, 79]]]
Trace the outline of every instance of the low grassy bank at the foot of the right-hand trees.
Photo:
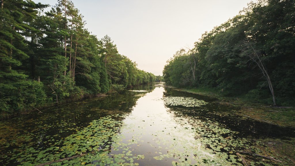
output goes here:
[[225, 97], [221, 94], [216, 93], [214, 89], [210, 88], [193, 88], [193, 89], [183, 89], [175, 88], [173, 89], [189, 92], [198, 95], [204, 95], [209, 97], [217, 98], [217, 102], [223, 104], [237, 106], [240, 109], [235, 111], [234, 114], [240, 116], [241, 119], [250, 118], [255, 121], [264, 121], [266, 123], [271, 123], [279, 125], [282, 127], [292, 127], [295, 128], [295, 108], [294, 107], [272, 107], [270, 105], [250, 102], [245, 98], [238, 97]]

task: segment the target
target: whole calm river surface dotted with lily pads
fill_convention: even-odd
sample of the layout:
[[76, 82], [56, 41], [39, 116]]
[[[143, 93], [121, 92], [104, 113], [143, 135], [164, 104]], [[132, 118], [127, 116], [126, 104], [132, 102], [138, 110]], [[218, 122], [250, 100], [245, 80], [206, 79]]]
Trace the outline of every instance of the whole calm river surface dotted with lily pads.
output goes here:
[[0, 165], [242, 165], [235, 151], [295, 136], [240, 120], [236, 110], [163, 84], [140, 86], [1, 121]]

